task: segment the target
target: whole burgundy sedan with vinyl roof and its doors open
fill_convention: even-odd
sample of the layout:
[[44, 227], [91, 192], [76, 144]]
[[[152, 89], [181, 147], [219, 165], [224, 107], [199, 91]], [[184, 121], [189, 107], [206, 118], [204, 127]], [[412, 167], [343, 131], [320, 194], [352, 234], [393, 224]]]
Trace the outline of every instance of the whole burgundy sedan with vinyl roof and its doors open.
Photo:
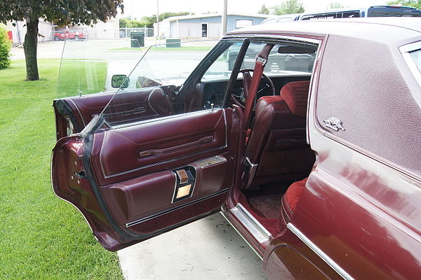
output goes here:
[[269, 279], [420, 277], [420, 19], [231, 31], [181, 85], [137, 69], [54, 101], [53, 190], [107, 250], [220, 211]]

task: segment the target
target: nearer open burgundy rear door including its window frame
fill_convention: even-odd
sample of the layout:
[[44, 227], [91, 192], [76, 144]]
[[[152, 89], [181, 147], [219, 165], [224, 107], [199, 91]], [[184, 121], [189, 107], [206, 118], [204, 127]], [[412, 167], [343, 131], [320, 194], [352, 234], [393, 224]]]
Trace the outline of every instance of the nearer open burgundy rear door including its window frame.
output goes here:
[[218, 65], [227, 69], [232, 44], [217, 45], [180, 96], [167, 96], [163, 86], [150, 89], [168, 97], [173, 113], [137, 118], [128, 102], [136, 91], [119, 90], [81, 133], [57, 142], [53, 190], [81, 211], [109, 251], [220, 211], [234, 185], [242, 111], [224, 106], [226, 71], [215, 82], [202, 77]]

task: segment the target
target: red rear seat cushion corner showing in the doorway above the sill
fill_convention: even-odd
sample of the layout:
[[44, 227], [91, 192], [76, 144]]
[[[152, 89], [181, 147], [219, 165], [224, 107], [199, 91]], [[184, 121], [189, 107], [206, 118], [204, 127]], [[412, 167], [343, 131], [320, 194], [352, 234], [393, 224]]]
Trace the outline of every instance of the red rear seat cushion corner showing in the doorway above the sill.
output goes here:
[[293, 212], [295, 207], [297, 207], [306, 183], [307, 178], [292, 183], [288, 190], [286, 190], [285, 195], [283, 195], [281, 200], [281, 218], [283, 219], [283, 223], [287, 224], [291, 221], [291, 216], [293, 216]]

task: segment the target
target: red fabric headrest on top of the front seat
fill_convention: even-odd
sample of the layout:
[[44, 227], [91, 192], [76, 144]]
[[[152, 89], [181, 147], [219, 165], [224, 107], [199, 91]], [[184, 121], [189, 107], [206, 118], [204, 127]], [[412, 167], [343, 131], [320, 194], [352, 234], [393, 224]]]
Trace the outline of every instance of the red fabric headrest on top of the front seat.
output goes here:
[[305, 117], [307, 114], [307, 97], [310, 82], [300, 81], [287, 83], [281, 88], [281, 97], [295, 116]]

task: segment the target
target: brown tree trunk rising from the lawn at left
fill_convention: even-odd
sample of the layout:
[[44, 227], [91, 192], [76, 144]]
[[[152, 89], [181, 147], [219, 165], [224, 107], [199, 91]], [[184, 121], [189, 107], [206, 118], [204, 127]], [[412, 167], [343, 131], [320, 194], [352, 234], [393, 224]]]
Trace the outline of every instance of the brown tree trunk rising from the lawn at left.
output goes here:
[[36, 48], [38, 44], [39, 20], [27, 20], [27, 34], [23, 43], [25, 62], [27, 68], [27, 80], [39, 80], [38, 62], [36, 61]]

